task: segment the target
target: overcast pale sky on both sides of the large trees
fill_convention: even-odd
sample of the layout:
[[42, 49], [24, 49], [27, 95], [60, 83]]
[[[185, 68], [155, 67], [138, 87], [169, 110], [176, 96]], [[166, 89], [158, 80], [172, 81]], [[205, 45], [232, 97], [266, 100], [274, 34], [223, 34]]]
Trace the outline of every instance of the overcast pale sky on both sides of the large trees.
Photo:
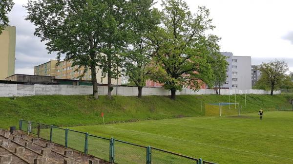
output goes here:
[[[251, 56], [251, 64], [282, 59], [293, 71], [293, 0], [186, 1], [192, 13], [199, 5], [210, 9], [216, 26], [212, 33], [222, 38], [222, 52]], [[14, 2], [9, 24], [17, 29], [15, 73], [33, 74], [35, 65], [55, 59], [56, 55], [47, 53], [44, 43], [33, 35], [34, 25], [24, 20], [26, 11], [22, 5], [27, 0]]]

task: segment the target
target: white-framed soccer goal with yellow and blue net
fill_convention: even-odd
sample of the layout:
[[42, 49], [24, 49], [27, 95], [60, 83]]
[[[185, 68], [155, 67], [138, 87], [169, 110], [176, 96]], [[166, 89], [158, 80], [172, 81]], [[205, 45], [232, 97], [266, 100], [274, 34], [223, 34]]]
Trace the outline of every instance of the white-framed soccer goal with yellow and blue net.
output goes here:
[[239, 103], [205, 104], [205, 116], [240, 115]]

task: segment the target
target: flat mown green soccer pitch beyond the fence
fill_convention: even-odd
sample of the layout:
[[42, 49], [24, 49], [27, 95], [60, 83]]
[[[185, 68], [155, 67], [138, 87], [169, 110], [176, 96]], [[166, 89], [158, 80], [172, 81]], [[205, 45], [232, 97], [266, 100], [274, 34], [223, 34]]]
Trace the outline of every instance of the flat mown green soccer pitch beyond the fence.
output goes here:
[[70, 127], [218, 164], [293, 164], [293, 112]]

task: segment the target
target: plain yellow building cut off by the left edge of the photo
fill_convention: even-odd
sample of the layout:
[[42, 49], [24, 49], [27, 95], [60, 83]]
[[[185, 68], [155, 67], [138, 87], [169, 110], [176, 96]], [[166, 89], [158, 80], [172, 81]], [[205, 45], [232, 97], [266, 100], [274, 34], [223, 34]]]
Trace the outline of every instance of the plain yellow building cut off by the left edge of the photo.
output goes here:
[[0, 34], [0, 80], [14, 74], [16, 27], [6, 26]]

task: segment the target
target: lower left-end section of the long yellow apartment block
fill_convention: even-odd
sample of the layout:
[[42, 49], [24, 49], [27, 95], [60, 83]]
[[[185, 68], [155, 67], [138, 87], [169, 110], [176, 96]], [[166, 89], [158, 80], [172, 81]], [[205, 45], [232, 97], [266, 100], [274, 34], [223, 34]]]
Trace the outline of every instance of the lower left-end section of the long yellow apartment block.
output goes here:
[[55, 76], [57, 60], [50, 60], [41, 65], [35, 66], [35, 75]]

